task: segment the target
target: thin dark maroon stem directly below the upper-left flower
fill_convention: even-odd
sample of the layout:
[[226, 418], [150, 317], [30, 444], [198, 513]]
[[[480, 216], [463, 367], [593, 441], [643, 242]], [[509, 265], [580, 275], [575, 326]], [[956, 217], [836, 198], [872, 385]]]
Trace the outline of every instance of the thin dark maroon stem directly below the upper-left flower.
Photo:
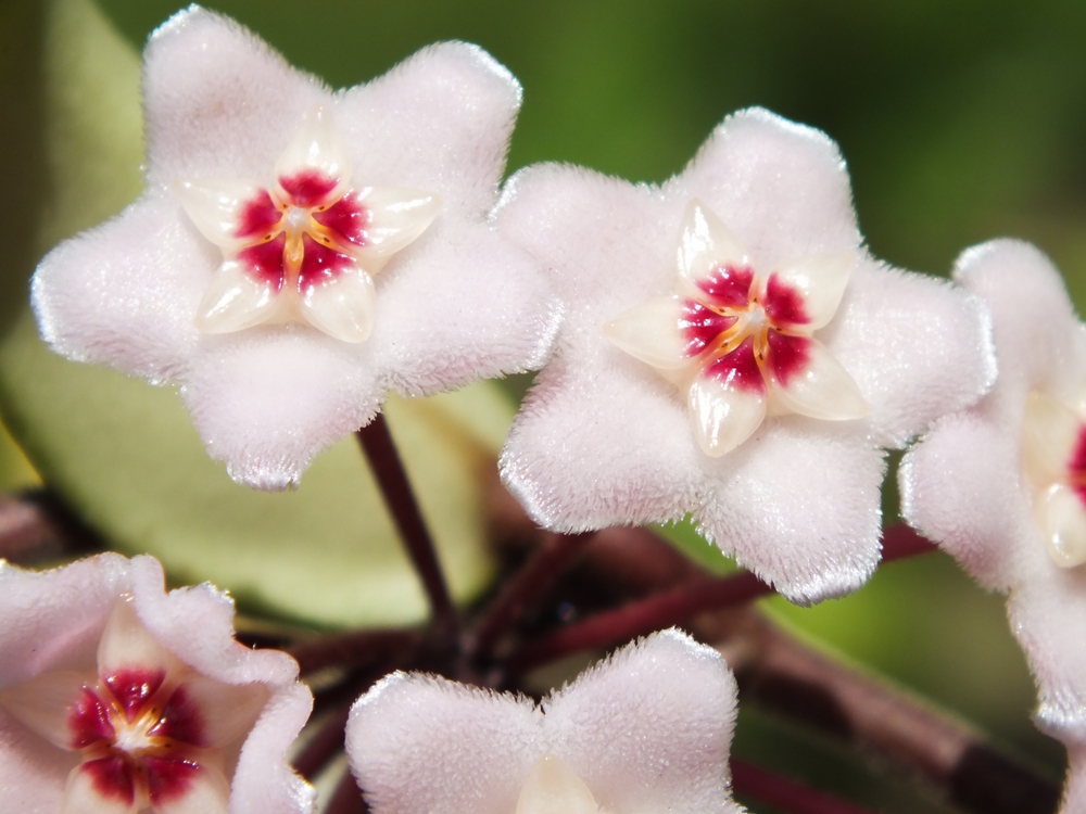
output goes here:
[[400, 538], [430, 598], [433, 615], [441, 627], [451, 636], [455, 635], [459, 627], [456, 608], [449, 595], [449, 586], [433, 547], [433, 538], [426, 527], [426, 521], [422, 520], [418, 500], [415, 499], [415, 493], [407, 480], [407, 472], [396, 451], [384, 416], [378, 412], [372, 421], [355, 434], [377, 478], [384, 503], [392, 512], [392, 519], [400, 531]]

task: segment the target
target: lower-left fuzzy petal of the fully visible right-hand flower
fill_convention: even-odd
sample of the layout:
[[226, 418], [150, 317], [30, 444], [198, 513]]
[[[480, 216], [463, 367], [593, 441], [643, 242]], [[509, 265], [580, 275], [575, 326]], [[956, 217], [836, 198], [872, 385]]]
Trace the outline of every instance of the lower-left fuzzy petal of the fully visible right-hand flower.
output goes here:
[[498, 459], [502, 478], [540, 524], [563, 532], [679, 520], [696, 503], [698, 456], [685, 404], [616, 347], [609, 366], [553, 360]]

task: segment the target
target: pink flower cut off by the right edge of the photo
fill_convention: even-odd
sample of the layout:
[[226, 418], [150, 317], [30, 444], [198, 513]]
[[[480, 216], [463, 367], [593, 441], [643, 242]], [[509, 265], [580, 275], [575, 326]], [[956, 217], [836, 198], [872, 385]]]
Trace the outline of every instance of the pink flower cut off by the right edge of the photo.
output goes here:
[[999, 380], [906, 456], [902, 511], [983, 585], [1010, 593], [1011, 628], [1040, 688], [1038, 723], [1082, 752], [1086, 328], [1059, 272], [1026, 243], [971, 249], [955, 276], [992, 309]]

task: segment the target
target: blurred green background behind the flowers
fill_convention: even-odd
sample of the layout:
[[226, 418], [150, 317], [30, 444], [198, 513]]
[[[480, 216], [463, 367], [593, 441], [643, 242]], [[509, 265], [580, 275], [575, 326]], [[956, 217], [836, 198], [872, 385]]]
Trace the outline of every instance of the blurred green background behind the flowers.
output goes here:
[[[964, 247], [1016, 236], [1051, 255], [1079, 308], [1086, 305], [1081, 0], [207, 5], [334, 87], [378, 75], [434, 40], [481, 44], [525, 87], [510, 171], [563, 161], [659, 181], [681, 170], [729, 112], [767, 106], [841, 144], [860, 226], [876, 256], [946, 274]], [[137, 47], [181, 7], [100, 0]], [[33, 478], [11, 449], [0, 460], [7, 486]], [[1007, 631], [1002, 600], [978, 592], [948, 559], [893, 565], [856, 596], [815, 609], [768, 605], [1060, 775], [1062, 749], [1027, 720], [1033, 685]], [[741, 748], [772, 752], [819, 780], [828, 770], [811, 763], [809, 745], [790, 750], [773, 727], [744, 713]], [[841, 762], [832, 750], [825, 754], [829, 764]], [[834, 776], [839, 788], [869, 802], [881, 799], [887, 811], [939, 811], [907, 791], [886, 799], [869, 788], [863, 772]]]

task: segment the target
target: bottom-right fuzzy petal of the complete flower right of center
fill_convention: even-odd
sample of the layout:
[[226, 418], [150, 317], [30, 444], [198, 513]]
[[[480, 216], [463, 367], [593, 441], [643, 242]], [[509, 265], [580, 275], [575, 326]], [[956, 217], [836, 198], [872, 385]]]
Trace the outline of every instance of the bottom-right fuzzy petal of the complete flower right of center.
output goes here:
[[695, 512], [724, 554], [799, 605], [858, 588], [879, 565], [883, 453], [842, 425], [786, 417], [706, 466]]

